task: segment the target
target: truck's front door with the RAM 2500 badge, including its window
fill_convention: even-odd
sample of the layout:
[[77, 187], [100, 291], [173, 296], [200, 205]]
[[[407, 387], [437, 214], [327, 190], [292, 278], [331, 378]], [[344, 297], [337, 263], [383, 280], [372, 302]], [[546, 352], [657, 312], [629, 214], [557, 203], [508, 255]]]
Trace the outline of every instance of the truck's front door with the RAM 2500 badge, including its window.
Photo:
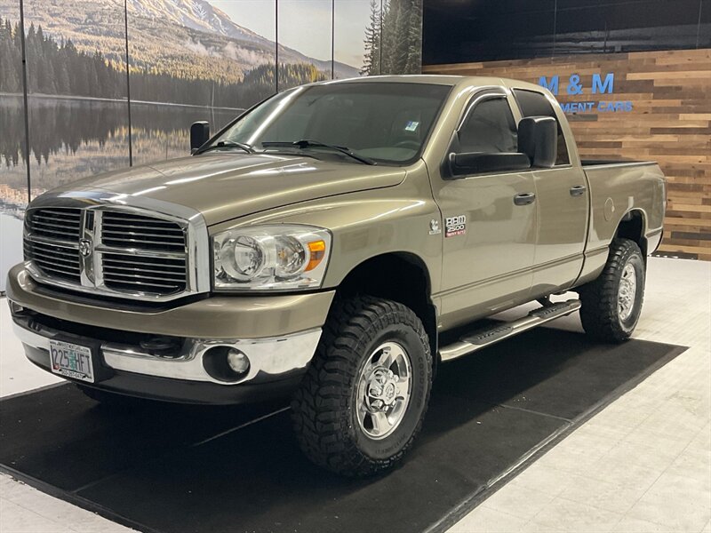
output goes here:
[[[503, 89], [477, 92], [459, 121], [458, 152], [515, 152], [516, 123]], [[453, 131], [452, 131], [453, 133]], [[531, 171], [433, 179], [443, 215], [444, 328], [522, 303], [531, 289], [536, 243]]]

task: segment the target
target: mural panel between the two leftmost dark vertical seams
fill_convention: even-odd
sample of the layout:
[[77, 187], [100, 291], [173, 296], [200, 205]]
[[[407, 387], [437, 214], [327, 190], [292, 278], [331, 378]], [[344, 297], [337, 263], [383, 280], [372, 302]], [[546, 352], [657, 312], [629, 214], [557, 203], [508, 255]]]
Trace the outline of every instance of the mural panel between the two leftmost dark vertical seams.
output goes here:
[[45, 189], [128, 166], [124, 2], [25, 2], [30, 171]]

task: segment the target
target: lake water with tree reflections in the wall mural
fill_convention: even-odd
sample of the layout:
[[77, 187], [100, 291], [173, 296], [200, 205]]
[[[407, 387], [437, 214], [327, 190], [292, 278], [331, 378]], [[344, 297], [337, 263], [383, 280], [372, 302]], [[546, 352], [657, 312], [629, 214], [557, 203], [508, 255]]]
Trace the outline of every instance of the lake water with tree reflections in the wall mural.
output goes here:
[[[186, 155], [189, 126], [208, 120], [213, 131], [238, 110], [132, 103], [133, 163]], [[0, 211], [20, 218], [27, 198], [24, 117], [20, 96], [0, 96]], [[29, 98], [32, 195], [128, 166], [128, 107], [122, 101]]]

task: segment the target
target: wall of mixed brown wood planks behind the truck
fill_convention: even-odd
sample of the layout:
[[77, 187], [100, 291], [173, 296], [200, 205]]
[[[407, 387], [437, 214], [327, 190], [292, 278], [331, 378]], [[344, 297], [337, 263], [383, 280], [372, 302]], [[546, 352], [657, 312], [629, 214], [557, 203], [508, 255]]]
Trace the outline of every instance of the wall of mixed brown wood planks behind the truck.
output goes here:
[[[711, 260], [711, 49], [428, 65], [427, 74], [502, 76], [538, 83], [559, 76], [558, 100], [630, 101], [630, 112], [568, 115], [583, 158], [659, 162], [667, 219], [658, 254]], [[614, 73], [613, 94], [591, 94], [591, 77]], [[584, 93], [569, 96], [578, 74]]]

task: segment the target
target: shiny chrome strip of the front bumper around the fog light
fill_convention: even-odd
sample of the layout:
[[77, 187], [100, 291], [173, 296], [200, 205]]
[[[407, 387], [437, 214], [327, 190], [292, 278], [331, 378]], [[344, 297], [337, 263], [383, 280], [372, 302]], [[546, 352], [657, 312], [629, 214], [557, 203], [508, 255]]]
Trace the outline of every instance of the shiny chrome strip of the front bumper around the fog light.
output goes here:
[[[60, 330], [53, 330], [46, 326], [30, 329], [17, 320], [13, 322], [13, 330], [24, 345], [45, 351], [49, 365], [50, 339], [61, 336]], [[272, 338], [232, 340], [187, 338], [180, 354], [170, 358], [148, 354], [136, 346], [115, 343], [102, 343], [100, 351], [103, 361], [112, 370], [156, 378], [235, 386], [247, 382], [256, 384], [276, 381], [303, 371], [313, 358], [320, 338], [321, 328]], [[246, 354], [250, 360], [248, 372], [235, 381], [227, 382], [212, 378], [204, 368], [203, 356], [207, 350], [215, 346], [236, 347]]]

